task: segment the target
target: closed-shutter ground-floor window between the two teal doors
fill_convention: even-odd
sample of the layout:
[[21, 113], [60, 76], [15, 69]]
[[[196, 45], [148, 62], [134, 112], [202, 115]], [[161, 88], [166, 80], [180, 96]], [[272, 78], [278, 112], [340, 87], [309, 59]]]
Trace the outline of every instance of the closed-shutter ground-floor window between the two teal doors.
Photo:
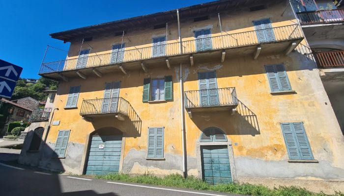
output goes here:
[[164, 158], [164, 127], [148, 127], [147, 158]]

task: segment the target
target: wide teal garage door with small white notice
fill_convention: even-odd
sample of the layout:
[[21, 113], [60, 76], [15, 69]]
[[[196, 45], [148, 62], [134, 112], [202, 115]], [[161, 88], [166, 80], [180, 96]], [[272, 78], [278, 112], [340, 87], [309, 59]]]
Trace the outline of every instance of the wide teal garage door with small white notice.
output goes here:
[[89, 148], [86, 174], [118, 173], [121, 147], [122, 136], [94, 135]]

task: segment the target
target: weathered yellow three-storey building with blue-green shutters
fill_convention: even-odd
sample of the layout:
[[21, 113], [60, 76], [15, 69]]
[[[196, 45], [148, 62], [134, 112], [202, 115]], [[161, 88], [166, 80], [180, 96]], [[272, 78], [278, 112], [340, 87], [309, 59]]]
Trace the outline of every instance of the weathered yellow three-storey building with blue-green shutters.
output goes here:
[[344, 137], [287, 0], [213, 1], [51, 36], [71, 44], [39, 71], [60, 80], [41, 168], [344, 180]]

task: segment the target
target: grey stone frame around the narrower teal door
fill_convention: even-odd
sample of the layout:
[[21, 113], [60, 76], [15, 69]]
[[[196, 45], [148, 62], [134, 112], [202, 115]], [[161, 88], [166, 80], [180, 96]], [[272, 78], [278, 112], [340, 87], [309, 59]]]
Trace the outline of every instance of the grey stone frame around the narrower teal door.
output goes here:
[[236, 178], [232, 142], [229, 139], [227, 140], [228, 140], [227, 142], [200, 142], [200, 141], [196, 142], [197, 169], [198, 169], [198, 177], [200, 179], [203, 179], [202, 178], [201, 146], [227, 146], [229, 164], [230, 164], [230, 175], [232, 177], [233, 183], [238, 182]]

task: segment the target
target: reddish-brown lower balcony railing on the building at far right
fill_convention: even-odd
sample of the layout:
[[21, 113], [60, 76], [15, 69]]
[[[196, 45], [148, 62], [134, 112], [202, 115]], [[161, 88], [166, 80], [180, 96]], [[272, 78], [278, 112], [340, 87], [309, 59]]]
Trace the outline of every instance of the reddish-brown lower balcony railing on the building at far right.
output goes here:
[[344, 67], [344, 50], [313, 52], [319, 68]]

